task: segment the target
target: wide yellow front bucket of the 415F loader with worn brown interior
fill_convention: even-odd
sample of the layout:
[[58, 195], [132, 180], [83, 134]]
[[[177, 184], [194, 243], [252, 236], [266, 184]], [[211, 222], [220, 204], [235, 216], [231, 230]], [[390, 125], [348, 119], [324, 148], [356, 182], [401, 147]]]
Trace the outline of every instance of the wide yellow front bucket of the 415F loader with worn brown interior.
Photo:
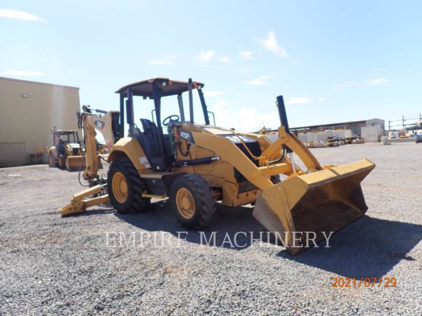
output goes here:
[[[290, 177], [262, 191], [253, 215], [267, 230], [279, 233], [276, 236], [290, 254], [298, 254], [307, 249], [305, 232], [314, 232], [318, 242], [325, 239], [322, 232], [328, 237], [330, 231], [338, 231], [365, 214], [368, 207], [360, 182], [374, 167], [363, 159]], [[293, 236], [292, 232], [300, 233]], [[313, 233], [308, 236], [314, 238]], [[314, 244], [309, 240], [308, 245]]]

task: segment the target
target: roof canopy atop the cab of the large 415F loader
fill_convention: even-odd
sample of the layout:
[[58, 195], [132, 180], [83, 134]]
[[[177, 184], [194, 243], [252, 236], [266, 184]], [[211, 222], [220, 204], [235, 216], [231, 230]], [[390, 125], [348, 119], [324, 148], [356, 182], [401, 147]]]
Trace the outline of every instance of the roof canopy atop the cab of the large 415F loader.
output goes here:
[[[144, 99], [152, 99], [153, 85], [151, 83], [156, 84], [157, 88], [160, 90], [160, 96], [180, 95], [183, 92], [188, 91], [187, 81], [176, 81], [170, 80], [169, 78], [157, 77], [130, 83], [117, 90], [116, 93], [127, 97], [127, 90], [130, 89], [134, 96], [142, 96]], [[194, 89], [198, 87], [203, 88], [203, 86], [203, 83], [196, 81], [192, 82], [192, 88]]]

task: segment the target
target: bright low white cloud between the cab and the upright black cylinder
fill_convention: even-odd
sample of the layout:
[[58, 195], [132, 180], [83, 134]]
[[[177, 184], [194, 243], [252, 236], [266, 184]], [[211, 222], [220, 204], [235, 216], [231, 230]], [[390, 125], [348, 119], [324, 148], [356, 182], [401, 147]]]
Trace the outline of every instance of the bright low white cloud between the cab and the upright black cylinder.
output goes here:
[[218, 126], [228, 129], [234, 127], [236, 131], [253, 132], [259, 131], [264, 125], [271, 128], [280, 125], [276, 107], [273, 110], [269, 108], [268, 112], [263, 112], [262, 108], [253, 107], [232, 110], [226, 101], [221, 100], [212, 104], [209, 108], [215, 113]]

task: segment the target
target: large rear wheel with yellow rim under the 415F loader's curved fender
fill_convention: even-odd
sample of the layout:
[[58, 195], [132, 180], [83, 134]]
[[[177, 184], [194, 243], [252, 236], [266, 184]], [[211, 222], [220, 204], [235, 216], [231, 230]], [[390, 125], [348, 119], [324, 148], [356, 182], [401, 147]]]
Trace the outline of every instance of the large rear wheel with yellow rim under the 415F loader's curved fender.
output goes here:
[[146, 185], [129, 158], [111, 163], [107, 174], [110, 202], [120, 214], [135, 214], [145, 211], [151, 198], [143, 198]]

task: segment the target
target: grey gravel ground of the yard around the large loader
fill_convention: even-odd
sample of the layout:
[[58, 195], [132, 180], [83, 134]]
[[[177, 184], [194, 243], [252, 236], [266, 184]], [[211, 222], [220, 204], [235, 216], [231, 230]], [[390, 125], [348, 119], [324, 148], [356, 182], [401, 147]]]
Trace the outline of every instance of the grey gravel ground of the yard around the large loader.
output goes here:
[[[81, 190], [78, 173], [0, 169], [0, 314], [422, 314], [422, 145], [317, 148], [322, 164], [376, 163], [363, 181], [369, 210], [333, 235], [331, 248], [292, 257], [285, 248], [201, 247], [189, 232], [178, 248], [167, 201], [116, 214], [110, 206], [61, 218]], [[206, 235], [265, 230], [252, 208], [219, 207]], [[170, 232], [173, 247], [106, 248], [106, 231]], [[157, 234], [160, 244], [160, 234]], [[184, 236], [182, 236], [184, 237]], [[271, 241], [271, 239], [270, 239]], [[396, 287], [331, 287], [333, 277], [397, 279]]]

